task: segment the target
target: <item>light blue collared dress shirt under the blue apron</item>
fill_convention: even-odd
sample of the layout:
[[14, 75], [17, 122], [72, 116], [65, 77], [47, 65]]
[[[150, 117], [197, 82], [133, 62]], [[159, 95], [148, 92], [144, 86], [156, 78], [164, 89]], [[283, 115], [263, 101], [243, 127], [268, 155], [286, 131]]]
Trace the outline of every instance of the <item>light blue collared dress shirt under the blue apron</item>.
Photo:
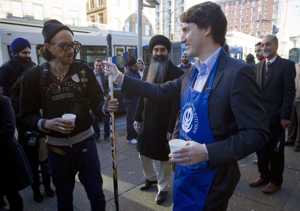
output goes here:
[[197, 75], [197, 80], [194, 85], [194, 90], [201, 92], [203, 86], [208, 78], [210, 71], [212, 71], [212, 67], [215, 64], [217, 57], [220, 53], [221, 47], [218, 48], [212, 55], [210, 55], [203, 64], [200, 64], [200, 60], [197, 59], [195, 62], [195, 66], [198, 69], [199, 73]]

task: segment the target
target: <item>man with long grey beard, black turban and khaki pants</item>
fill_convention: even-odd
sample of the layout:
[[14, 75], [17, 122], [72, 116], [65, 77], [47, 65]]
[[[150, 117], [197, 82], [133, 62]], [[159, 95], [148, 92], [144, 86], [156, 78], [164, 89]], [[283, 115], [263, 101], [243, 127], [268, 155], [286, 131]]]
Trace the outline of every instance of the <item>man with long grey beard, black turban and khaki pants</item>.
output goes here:
[[[171, 42], [163, 35], [154, 36], [149, 42], [152, 52], [150, 65], [145, 68], [143, 80], [149, 83], [163, 84], [183, 75], [183, 70], [176, 67], [169, 59]], [[137, 151], [142, 162], [146, 181], [140, 190], [147, 190], [158, 183], [157, 204], [167, 197], [171, 166], [169, 164], [168, 141], [172, 139], [176, 115], [180, 110], [180, 101], [158, 101], [139, 98], [134, 115], [134, 128], [138, 132]], [[154, 160], [160, 161], [157, 172]]]

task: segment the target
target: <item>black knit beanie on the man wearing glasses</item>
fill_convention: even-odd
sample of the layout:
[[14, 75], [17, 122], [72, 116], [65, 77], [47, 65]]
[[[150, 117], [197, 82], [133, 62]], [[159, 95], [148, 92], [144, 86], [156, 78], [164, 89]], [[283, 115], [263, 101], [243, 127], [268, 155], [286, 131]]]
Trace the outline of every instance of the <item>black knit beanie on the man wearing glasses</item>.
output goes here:
[[60, 23], [58, 20], [51, 19], [45, 21], [42, 30], [42, 35], [44, 36], [44, 44], [48, 43], [56, 33], [64, 29], [70, 31], [74, 36], [73, 31], [68, 26], [65, 26], [63, 25], [63, 23]]

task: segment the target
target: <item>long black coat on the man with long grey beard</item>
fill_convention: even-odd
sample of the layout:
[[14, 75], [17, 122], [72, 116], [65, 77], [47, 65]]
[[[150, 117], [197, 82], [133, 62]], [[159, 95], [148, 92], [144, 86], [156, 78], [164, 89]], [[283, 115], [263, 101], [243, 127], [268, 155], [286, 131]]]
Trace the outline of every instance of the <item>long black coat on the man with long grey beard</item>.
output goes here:
[[[145, 68], [143, 80], [146, 80], [149, 66]], [[164, 82], [175, 80], [182, 76], [184, 71], [175, 66], [171, 60], [168, 63], [168, 72]], [[153, 160], [168, 161], [170, 151], [167, 132], [173, 133], [176, 116], [180, 111], [180, 100], [158, 101], [140, 97], [133, 120], [142, 122], [138, 133], [137, 151], [141, 155]]]

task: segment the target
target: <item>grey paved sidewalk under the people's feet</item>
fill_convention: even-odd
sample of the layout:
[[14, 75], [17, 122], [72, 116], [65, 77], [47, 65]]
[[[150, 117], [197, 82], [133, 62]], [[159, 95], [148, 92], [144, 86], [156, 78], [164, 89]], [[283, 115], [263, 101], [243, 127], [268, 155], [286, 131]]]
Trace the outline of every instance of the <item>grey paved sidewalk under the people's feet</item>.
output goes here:
[[[145, 181], [143, 169], [135, 149], [136, 145], [126, 142], [126, 136], [117, 138], [117, 169], [119, 208], [123, 211], [135, 210], [172, 210], [173, 173], [170, 178], [168, 198], [161, 205], [155, 203], [158, 189], [155, 185], [146, 191], [140, 191], [139, 186]], [[97, 143], [103, 177], [103, 191], [106, 198], [106, 210], [115, 210], [113, 198], [113, 169], [111, 158], [111, 143]], [[229, 200], [227, 210], [230, 211], [298, 211], [300, 210], [300, 152], [294, 152], [293, 147], [285, 147], [285, 169], [282, 188], [274, 194], [262, 193], [261, 187], [252, 188], [248, 182], [259, 176], [257, 165], [252, 164], [256, 159], [255, 153], [238, 162], [241, 179], [234, 194]], [[156, 163], [159, 166], [159, 162]], [[53, 185], [52, 185], [53, 187]], [[40, 188], [44, 196], [41, 203], [33, 200], [30, 187], [20, 191], [24, 200], [24, 211], [53, 211], [56, 210], [56, 197], [45, 196], [44, 188]], [[82, 184], [78, 178], [74, 189], [74, 210], [89, 211], [90, 204]]]

